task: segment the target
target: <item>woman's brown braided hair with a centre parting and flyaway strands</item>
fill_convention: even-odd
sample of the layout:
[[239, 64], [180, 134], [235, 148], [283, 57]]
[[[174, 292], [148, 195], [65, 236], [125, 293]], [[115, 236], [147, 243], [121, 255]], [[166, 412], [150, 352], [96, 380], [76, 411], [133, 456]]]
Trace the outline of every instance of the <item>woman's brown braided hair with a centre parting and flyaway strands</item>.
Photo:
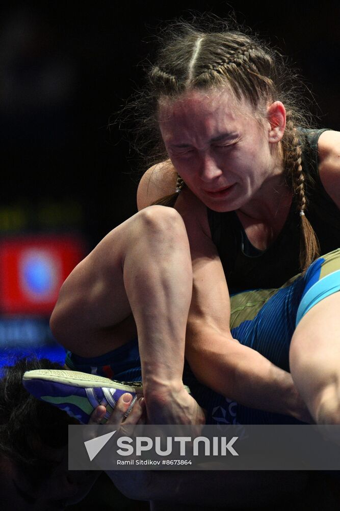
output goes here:
[[[235, 22], [232, 25], [235, 27]], [[239, 26], [231, 30], [229, 21], [215, 16], [203, 16], [194, 22], [179, 20], [161, 31], [160, 51], [155, 63], [148, 66], [148, 83], [135, 103], [142, 120], [137, 143], [139, 151], [149, 155], [148, 166], [168, 158], [158, 126], [159, 106], [162, 101], [175, 99], [188, 90], [228, 87], [238, 100], [245, 99], [253, 107], [256, 118], [262, 119], [268, 103], [282, 101], [287, 112], [282, 138], [283, 164], [300, 212], [300, 266], [304, 270], [319, 254], [316, 235], [305, 215], [303, 136], [298, 130], [298, 127], [309, 127], [311, 115], [299, 94], [301, 84], [282, 55], [245, 32]], [[177, 181], [177, 192], [180, 184], [185, 185]], [[177, 196], [174, 193], [157, 203], [173, 205]]]

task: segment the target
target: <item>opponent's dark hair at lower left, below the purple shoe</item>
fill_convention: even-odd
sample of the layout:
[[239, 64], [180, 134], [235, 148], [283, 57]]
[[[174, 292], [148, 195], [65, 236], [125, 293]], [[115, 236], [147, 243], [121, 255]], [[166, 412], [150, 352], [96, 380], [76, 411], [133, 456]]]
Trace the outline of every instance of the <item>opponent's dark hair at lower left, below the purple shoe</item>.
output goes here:
[[68, 424], [77, 424], [65, 412], [34, 398], [22, 385], [25, 371], [61, 369], [46, 359], [22, 358], [2, 368], [0, 379], [0, 454], [21, 467], [48, 469], [39, 446], [67, 445]]

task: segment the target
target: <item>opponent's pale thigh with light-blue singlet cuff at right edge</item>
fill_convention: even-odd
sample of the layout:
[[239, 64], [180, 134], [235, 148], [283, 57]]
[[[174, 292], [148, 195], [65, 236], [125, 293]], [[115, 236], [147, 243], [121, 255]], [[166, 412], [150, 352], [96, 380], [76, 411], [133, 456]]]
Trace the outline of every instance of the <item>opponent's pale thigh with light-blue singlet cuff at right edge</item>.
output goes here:
[[290, 348], [291, 373], [313, 419], [340, 424], [340, 249], [305, 275]]

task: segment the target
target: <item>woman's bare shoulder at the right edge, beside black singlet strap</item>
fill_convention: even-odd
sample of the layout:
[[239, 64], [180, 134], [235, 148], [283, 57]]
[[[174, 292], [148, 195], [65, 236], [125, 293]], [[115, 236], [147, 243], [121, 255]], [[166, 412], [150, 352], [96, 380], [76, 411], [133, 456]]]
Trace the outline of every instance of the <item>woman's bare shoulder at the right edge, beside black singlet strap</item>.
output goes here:
[[318, 151], [321, 182], [340, 207], [340, 131], [324, 131], [319, 138]]

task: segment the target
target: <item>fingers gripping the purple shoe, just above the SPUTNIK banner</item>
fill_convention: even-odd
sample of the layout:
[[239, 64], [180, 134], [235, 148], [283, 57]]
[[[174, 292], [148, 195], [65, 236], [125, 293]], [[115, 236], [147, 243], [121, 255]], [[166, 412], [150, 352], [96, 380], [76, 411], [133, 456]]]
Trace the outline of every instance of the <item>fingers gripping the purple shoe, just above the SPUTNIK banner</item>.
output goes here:
[[[132, 410], [125, 418], [125, 413], [128, 410], [132, 401], [132, 395], [126, 392], [123, 394], [117, 404], [115, 409], [113, 410], [110, 418], [106, 422], [106, 425], [114, 425], [121, 426], [122, 424], [145, 424], [146, 422], [146, 410], [144, 398], [140, 398], [134, 404]], [[103, 405], [97, 406], [97, 408], [92, 412], [90, 420], [88, 422], [89, 425], [100, 424], [100, 421], [103, 419], [103, 416], [106, 413], [106, 408]]]

